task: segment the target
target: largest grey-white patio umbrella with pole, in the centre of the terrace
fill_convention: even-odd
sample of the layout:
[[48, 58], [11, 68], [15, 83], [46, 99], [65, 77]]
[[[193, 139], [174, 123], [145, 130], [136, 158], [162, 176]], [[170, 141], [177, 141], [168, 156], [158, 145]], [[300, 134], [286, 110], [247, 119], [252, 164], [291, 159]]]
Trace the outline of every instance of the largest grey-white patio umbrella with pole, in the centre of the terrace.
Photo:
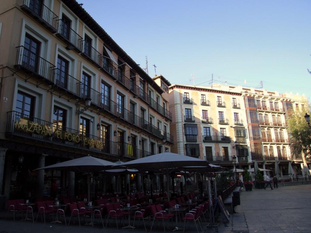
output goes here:
[[[164, 152], [128, 161], [123, 163], [122, 166], [134, 168], [139, 171], [160, 171], [169, 177], [171, 172], [176, 171], [181, 167], [208, 166], [208, 162], [206, 160], [193, 158], [190, 156]], [[166, 187], [167, 197], [169, 200], [169, 182], [167, 182]]]

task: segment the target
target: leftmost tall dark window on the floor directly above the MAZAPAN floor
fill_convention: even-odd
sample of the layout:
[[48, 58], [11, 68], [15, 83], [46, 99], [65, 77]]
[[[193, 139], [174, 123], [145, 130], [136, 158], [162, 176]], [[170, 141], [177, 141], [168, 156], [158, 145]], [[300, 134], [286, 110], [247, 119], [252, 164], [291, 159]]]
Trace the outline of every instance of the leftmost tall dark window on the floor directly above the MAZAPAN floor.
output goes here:
[[40, 45], [41, 43], [38, 40], [26, 34], [22, 65], [35, 73], [37, 73], [39, 65]]

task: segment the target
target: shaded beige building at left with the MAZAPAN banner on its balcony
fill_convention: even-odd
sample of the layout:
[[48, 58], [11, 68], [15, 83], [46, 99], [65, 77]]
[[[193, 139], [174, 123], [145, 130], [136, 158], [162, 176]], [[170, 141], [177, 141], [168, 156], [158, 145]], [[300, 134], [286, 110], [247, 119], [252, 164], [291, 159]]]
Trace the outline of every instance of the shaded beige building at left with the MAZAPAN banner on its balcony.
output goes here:
[[[126, 161], [170, 151], [169, 82], [148, 76], [78, 2], [2, 1], [0, 54], [0, 194], [7, 198], [49, 195], [52, 179], [68, 195], [83, 192], [81, 174], [37, 167], [88, 154]], [[92, 182], [97, 191], [115, 190], [109, 180], [106, 190]]]

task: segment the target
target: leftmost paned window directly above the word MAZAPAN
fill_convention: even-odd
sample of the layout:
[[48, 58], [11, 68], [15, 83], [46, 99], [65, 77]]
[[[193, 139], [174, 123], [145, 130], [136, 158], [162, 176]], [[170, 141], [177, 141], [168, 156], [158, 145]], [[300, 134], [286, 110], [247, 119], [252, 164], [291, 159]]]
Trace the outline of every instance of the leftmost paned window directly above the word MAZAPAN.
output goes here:
[[19, 114], [16, 115], [24, 119], [29, 119], [32, 117], [34, 114], [34, 100], [35, 97], [18, 91], [15, 111]]

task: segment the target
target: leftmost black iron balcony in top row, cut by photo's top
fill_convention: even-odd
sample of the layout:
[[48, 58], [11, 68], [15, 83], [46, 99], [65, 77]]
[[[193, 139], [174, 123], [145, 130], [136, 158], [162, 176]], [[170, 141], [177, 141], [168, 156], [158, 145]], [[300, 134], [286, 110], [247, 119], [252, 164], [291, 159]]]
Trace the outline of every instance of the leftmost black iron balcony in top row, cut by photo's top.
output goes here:
[[45, 6], [43, 1], [24, 0], [21, 9], [37, 19], [52, 33], [57, 32], [58, 16]]

